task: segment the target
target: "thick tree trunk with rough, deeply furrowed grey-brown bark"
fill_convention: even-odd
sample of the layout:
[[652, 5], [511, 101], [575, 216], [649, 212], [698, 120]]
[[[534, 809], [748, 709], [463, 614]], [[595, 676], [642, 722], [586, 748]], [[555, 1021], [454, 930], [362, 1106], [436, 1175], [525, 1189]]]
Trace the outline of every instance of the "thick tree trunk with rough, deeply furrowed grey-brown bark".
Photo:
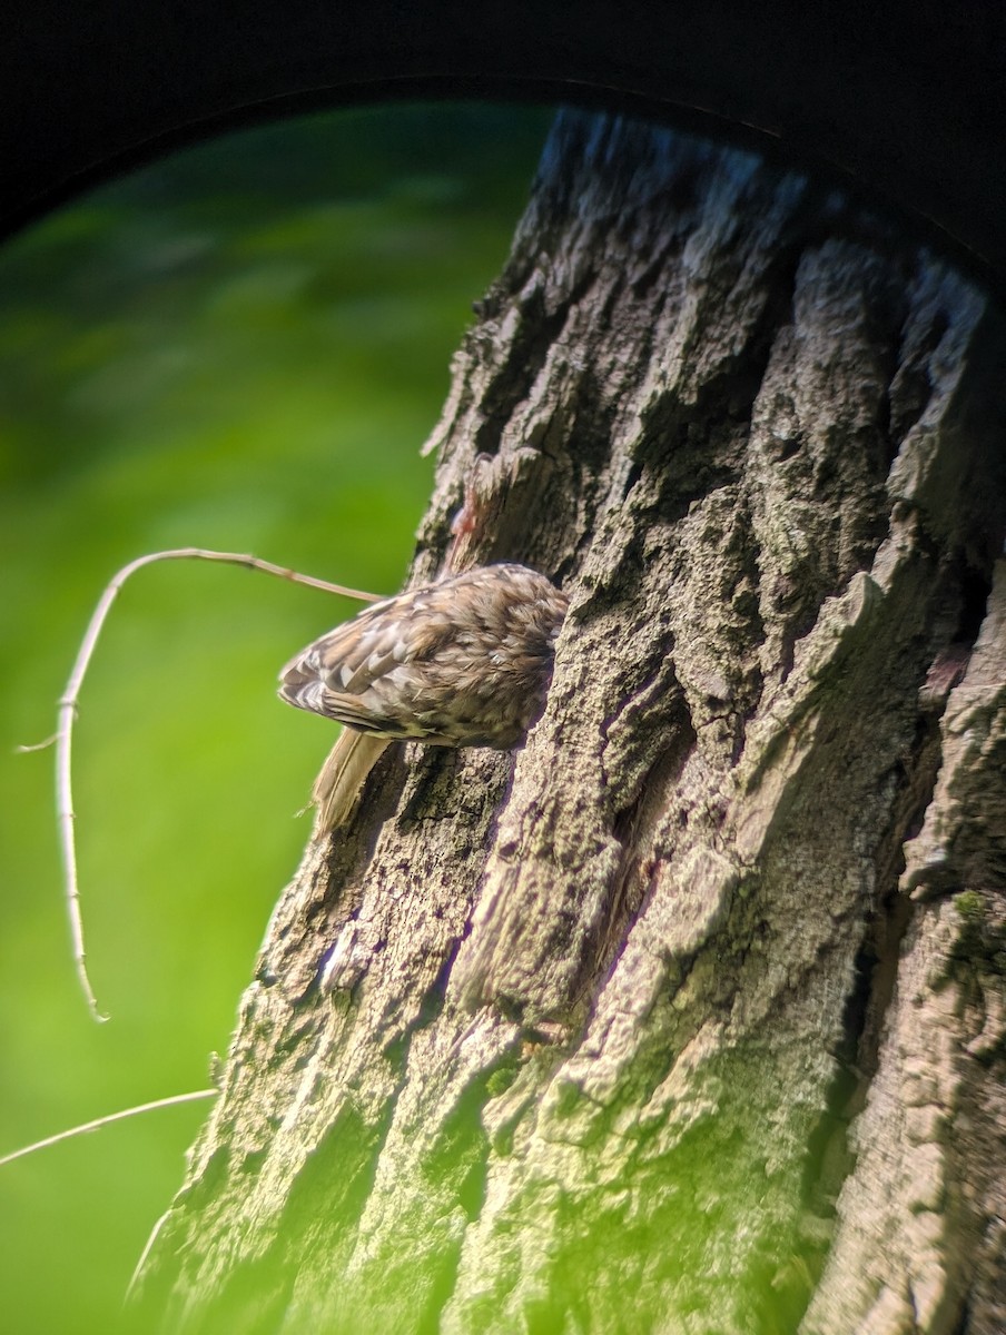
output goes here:
[[514, 757], [310, 846], [142, 1270], [188, 1331], [1006, 1328], [1006, 336], [834, 190], [565, 115], [413, 577], [572, 598]]

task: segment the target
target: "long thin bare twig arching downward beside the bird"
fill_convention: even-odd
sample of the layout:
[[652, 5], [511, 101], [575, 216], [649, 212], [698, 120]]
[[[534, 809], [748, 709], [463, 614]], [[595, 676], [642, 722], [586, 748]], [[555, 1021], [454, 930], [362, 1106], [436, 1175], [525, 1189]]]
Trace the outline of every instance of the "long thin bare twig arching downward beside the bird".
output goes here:
[[88, 622], [84, 638], [80, 642], [73, 670], [69, 674], [67, 689], [59, 701], [59, 714], [56, 733], [48, 741], [37, 746], [23, 746], [20, 750], [41, 750], [55, 742], [56, 745], [56, 818], [60, 830], [60, 849], [63, 854], [63, 869], [67, 886], [67, 917], [69, 921], [69, 936], [73, 947], [73, 961], [76, 964], [77, 980], [80, 983], [91, 1015], [95, 1020], [108, 1019], [98, 1008], [98, 1000], [87, 975], [84, 952], [84, 926], [80, 916], [80, 890], [77, 885], [76, 840], [73, 836], [73, 788], [71, 781], [71, 750], [73, 737], [73, 720], [77, 713], [77, 698], [84, 681], [91, 655], [95, 651], [98, 637], [102, 633], [106, 617], [115, 602], [116, 594], [130, 578], [143, 566], [151, 566], [155, 561], [220, 561], [231, 566], [246, 566], [250, 570], [261, 570], [263, 574], [277, 575], [281, 579], [290, 579], [293, 583], [307, 585], [310, 589], [321, 589], [325, 593], [337, 593], [345, 598], [355, 598], [359, 602], [379, 602], [383, 594], [362, 593], [359, 589], [347, 589], [345, 585], [330, 583], [327, 579], [315, 579], [311, 575], [298, 574], [286, 566], [277, 566], [271, 561], [261, 561], [235, 551], [208, 551], [204, 547], [176, 547], [171, 551], [152, 551], [146, 557], [138, 557], [111, 579], [102, 598], [95, 607]]

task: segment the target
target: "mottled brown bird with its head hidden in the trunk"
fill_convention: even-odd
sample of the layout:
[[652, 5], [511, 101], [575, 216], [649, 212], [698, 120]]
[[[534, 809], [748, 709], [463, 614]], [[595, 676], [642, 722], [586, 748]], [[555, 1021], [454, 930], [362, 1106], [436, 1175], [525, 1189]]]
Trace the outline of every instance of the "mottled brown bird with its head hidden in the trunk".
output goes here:
[[315, 837], [349, 820], [390, 741], [522, 742], [545, 708], [566, 606], [526, 566], [481, 566], [377, 602], [291, 659], [281, 698], [347, 729], [311, 793]]

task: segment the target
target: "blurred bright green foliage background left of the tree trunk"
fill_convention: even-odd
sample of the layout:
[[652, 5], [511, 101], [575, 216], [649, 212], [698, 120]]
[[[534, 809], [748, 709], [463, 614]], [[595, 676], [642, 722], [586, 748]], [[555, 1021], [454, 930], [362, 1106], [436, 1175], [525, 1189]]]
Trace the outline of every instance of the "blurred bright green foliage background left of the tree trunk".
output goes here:
[[[120, 597], [81, 697], [96, 1025], [69, 959], [52, 733], [112, 573], [172, 546], [394, 591], [420, 446], [548, 124], [518, 107], [331, 112], [206, 143], [0, 252], [0, 1153], [208, 1084], [331, 740], [275, 698], [355, 610], [167, 563]], [[0, 1168], [5, 1332], [112, 1330], [207, 1104]]]

